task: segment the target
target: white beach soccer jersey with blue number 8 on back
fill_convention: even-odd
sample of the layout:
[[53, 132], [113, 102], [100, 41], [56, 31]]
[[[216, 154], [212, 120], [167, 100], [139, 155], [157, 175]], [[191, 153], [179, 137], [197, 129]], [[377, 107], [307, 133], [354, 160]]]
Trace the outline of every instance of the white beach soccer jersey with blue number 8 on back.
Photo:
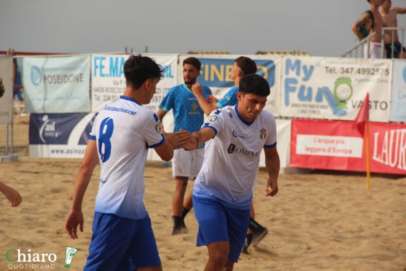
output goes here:
[[95, 140], [100, 160], [100, 184], [94, 211], [142, 219], [144, 167], [148, 148], [165, 141], [156, 114], [120, 96], [94, 120], [90, 139]]

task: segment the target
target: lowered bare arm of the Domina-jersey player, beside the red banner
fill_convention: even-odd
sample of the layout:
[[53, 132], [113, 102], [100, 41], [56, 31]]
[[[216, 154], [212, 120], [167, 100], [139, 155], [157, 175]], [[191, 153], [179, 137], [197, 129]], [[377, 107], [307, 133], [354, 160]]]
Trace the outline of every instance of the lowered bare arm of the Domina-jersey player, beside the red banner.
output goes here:
[[278, 193], [278, 175], [280, 168], [278, 151], [276, 147], [263, 149], [265, 152], [265, 167], [269, 176], [266, 182], [266, 196], [275, 196]]

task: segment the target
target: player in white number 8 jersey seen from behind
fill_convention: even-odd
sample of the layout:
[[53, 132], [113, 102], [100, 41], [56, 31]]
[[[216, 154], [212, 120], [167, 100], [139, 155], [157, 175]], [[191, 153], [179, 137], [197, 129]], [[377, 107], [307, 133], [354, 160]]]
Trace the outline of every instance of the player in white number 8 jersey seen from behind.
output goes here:
[[100, 162], [93, 235], [84, 270], [162, 270], [143, 203], [146, 146], [169, 161], [174, 148], [190, 135], [185, 131], [161, 133], [159, 118], [142, 107], [150, 103], [161, 73], [161, 67], [151, 58], [130, 56], [124, 64], [124, 95], [107, 105], [94, 120], [65, 222], [66, 233], [77, 239], [78, 225], [83, 231], [83, 196]]

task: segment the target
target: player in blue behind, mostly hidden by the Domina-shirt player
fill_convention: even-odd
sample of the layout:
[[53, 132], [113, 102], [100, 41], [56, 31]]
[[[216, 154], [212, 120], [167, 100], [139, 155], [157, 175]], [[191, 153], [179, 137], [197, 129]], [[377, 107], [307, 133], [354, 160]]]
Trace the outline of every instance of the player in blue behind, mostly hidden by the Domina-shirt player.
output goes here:
[[[255, 64], [254, 60], [246, 56], [237, 57], [234, 60], [230, 74], [231, 79], [234, 81], [235, 87], [231, 88], [221, 100], [217, 100], [217, 98], [213, 95], [209, 95], [208, 99], [206, 100], [201, 94], [201, 87], [198, 83], [192, 86], [193, 94], [196, 96], [197, 101], [199, 102], [199, 105], [203, 111], [209, 115], [213, 110], [223, 108], [225, 106], [235, 105], [237, 103], [237, 92], [239, 91], [241, 79], [245, 75], [255, 74], [256, 72], [257, 65]], [[184, 210], [187, 209], [184, 207]], [[254, 206], [251, 204], [250, 224], [243, 253], [248, 254], [248, 247], [251, 245], [251, 243], [253, 243], [255, 247], [267, 233], [268, 230], [255, 220], [255, 210]]]

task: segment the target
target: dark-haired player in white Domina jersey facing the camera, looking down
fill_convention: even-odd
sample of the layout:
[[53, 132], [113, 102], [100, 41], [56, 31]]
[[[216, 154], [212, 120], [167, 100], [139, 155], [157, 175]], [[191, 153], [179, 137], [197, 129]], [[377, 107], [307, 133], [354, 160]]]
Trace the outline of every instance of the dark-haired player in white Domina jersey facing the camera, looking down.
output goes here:
[[278, 192], [279, 155], [276, 121], [263, 111], [269, 95], [268, 82], [251, 74], [240, 81], [238, 103], [213, 111], [185, 150], [206, 143], [205, 160], [193, 189], [193, 206], [199, 229], [197, 246], [207, 246], [205, 270], [232, 270], [243, 249], [252, 188], [261, 149], [269, 179], [266, 196]]

